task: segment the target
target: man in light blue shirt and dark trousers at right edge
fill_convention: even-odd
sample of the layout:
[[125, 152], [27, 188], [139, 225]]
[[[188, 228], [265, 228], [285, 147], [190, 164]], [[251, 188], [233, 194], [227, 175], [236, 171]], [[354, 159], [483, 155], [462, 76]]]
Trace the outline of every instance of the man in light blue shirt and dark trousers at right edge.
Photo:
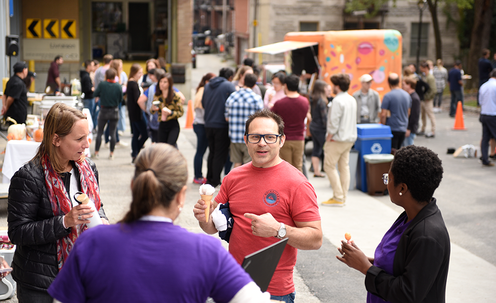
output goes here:
[[[491, 78], [479, 88], [480, 122], [482, 123], [482, 165], [494, 166], [489, 162], [487, 150], [489, 140], [496, 138], [496, 68], [489, 74]], [[491, 150], [491, 154], [494, 150]]]

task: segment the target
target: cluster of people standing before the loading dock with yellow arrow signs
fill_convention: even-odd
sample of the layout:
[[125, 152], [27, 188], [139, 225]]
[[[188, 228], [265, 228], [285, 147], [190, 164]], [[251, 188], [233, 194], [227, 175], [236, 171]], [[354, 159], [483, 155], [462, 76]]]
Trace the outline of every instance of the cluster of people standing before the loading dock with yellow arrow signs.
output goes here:
[[159, 59], [146, 61], [146, 74], [137, 63], [127, 74], [122, 70], [122, 60], [108, 54], [103, 56], [103, 66], [95, 61], [85, 61], [85, 69], [80, 72], [81, 92], [84, 106], [93, 118], [92, 131], [97, 135], [93, 159], [99, 159], [103, 134], [104, 146], [110, 148], [110, 160], [114, 160], [115, 146], [128, 146], [119, 140], [119, 131], [126, 128], [126, 116], [133, 135], [132, 163], [148, 138], [153, 143], [176, 146], [177, 119], [184, 114], [185, 98], [174, 86], [172, 75], [166, 72], [165, 61]]

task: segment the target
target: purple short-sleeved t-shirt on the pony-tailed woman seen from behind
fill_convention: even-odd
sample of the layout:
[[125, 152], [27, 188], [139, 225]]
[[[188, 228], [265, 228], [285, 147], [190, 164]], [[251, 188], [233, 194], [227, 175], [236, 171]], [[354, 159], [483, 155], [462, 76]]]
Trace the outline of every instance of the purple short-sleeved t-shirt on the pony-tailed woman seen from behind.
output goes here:
[[218, 239], [137, 221], [82, 233], [48, 292], [73, 303], [221, 303], [251, 281]]

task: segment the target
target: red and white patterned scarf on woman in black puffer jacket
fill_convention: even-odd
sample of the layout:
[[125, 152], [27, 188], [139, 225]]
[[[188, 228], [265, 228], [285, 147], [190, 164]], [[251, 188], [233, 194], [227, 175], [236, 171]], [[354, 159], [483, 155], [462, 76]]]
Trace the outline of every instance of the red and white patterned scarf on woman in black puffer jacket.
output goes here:
[[[52, 205], [54, 216], [66, 215], [72, 209], [72, 198], [67, 192], [64, 182], [60, 175], [53, 169], [48, 155], [42, 158], [41, 165], [45, 173], [45, 183], [47, 185], [48, 197]], [[100, 190], [98, 188], [97, 178], [91, 169], [91, 166], [85, 161], [83, 157], [81, 161], [75, 162], [77, 170], [79, 171], [79, 181], [81, 184], [81, 191], [86, 193], [90, 200], [95, 202], [97, 211], [100, 210]], [[57, 240], [57, 264], [60, 269], [64, 265], [69, 252], [74, 246], [74, 241], [77, 235], [88, 227], [86, 224], [80, 224], [71, 227], [71, 232]]]

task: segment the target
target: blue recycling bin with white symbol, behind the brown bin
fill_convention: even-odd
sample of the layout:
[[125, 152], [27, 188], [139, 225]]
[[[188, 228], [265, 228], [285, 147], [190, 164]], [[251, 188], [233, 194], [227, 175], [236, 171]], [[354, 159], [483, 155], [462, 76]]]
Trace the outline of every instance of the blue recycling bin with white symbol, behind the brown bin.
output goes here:
[[391, 127], [382, 124], [357, 124], [358, 138], [355, 149], [358, 150], [358, 168], [356, 174], [356, 188], [367, 192], [367, 174], [363, 155], [391, 153]]

